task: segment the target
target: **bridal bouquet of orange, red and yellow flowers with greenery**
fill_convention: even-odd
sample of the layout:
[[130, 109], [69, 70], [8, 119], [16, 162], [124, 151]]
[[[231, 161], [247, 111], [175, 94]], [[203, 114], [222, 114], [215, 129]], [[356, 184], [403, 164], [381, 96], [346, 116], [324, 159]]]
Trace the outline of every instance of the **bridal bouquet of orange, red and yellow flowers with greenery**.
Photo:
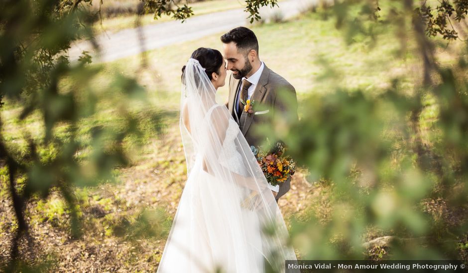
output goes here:
[[276, 142], [268, 153], [255, 146], [250, 146], [268, 183], [276, 186], [288, 180], [296, 172], [296, 162], [289, 156], [284, 156], [284, 145]]

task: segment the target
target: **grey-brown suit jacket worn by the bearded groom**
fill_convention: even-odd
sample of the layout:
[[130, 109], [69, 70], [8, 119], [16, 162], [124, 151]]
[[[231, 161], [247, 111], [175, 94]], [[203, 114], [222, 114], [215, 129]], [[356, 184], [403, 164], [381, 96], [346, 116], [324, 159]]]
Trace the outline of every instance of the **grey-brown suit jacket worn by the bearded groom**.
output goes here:
[[[258, 146], [266, 138], [266, 136], [261, 136], [256, 132], [255, 125], [273, 125], [278, 115], [288, 115], [289, 118], [298, 119], [296, 90], [286, 79], [267, 68], [266, 65], [264, 65], [258, 84], [250, 98], [250, 101], [254, 101], [253, 111], [258, 114], [247, 114], [242, 111], [241, 116], [237, 117], [234, 102], [240, 82], [241, 80], [235, 79], [233, 75], [229, 78], [229, 100], [227, 107], [233, 115], [234, 120], [239, 124], [239, 128], [249, 145]], [[291, 103], [286, 103], [285, 100]], [[289, 188], [289, 180], [281, 183], [276, 201], [288, 192]]]

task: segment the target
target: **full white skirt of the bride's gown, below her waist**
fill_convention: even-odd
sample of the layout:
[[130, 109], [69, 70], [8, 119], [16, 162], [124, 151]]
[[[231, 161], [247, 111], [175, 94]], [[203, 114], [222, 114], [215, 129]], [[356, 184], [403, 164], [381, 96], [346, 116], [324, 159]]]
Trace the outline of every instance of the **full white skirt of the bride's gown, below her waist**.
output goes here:
[[190, 173], [158, 273], [264, 272], [259, 220], [224, 183], [201, 167]]

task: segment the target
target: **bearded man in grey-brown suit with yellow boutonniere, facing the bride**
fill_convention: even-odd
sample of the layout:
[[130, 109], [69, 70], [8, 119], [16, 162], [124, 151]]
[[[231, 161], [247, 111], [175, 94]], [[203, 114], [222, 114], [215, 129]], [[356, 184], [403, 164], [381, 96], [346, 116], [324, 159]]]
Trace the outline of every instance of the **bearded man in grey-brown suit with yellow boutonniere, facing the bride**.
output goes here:
[[[249, 145], [262, 144], [266, 136], [255, 132], [255, 125], [273, 125], [280, 117], [297, 120], [297, 98], [294, 87], [260, 61], [257, 37], [246, 27], [237, 27], [221, 36], [228, 69], [229, 101], [226, 104]], [[244, 111], [242, 102], [254, 101], [253, 113]], [[286, 103], [286, 100], [290, 103]], [[292, 103], [291, 103], [292, 102]], [[258, 111], [258, 109], [267, 109]], [[270, 188], [277, 192], [275, 199], [290, 189], [290, 179]]]

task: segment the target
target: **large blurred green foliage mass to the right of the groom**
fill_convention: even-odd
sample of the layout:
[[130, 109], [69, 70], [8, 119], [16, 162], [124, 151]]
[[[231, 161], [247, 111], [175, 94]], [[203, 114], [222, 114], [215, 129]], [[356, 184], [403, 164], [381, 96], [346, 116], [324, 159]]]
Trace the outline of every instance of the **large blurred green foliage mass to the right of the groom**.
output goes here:
[[[309, 181], [330, 185], [331, 212], [293, 223], [293, 243], [308, 259], [362, 259], [374, 248], [377, 259], [467, 261], [467, 44], [442, 66], [436, 43], [466, 33], [468, 2], [378, 3], [336, 1], [325, 13], [349, 43], [393, 31], [395, 58], [419, 62], [412, 88], [396, 77], [383, 92], [336, 90], [302, 101], [302, 119], [282, 137]], [[382, 236], [363, 242], [369, 230]]]

